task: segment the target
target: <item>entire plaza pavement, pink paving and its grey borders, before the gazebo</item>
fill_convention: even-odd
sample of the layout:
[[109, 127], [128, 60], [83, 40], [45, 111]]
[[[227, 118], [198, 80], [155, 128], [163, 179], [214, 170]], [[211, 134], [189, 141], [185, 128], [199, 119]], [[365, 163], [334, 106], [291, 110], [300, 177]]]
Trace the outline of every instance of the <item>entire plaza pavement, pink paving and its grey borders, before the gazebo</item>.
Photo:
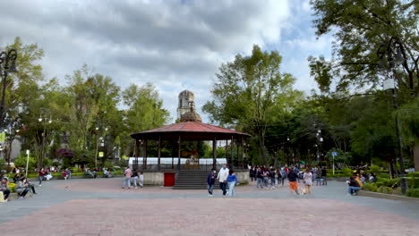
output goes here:
[[418, 235], [419, 204], [347, 196], [346, 183], [215, 190], [121, 189], [122, 179], [49, 181], [0, 204], [0, 235]]

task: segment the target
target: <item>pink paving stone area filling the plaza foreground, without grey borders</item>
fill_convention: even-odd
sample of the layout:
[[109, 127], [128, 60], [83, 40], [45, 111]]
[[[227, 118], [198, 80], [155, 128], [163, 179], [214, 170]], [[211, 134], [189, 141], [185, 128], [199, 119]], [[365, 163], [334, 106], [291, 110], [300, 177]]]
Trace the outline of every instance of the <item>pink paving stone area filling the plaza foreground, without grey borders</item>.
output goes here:
[[[329, 199], [82, 199], [8, 223], [2, 235], [417, 235], [419, 222]], [[4, 233], [4, 234], [3, 234]]]

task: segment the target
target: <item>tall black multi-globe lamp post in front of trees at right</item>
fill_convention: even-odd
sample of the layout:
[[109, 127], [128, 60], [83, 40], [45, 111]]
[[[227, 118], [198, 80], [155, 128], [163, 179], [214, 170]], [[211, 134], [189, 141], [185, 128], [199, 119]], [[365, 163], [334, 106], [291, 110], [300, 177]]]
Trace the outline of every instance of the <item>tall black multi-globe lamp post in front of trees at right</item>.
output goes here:
[[[383, 52], [385, 48], [385, 52]], [[380, 58], [378, 70], [380, 72], [386, 72], [389, 75], [389, 78], [384, 81], [384, 89], [391, 89], [393, 97], [393, 107], [395, 110], [398, 109], [398, 100], [397, 100], [397, 90], [395, 85], [396, 80], [396, 67], [405, 62], [405, 58], [402, 55], [403, 45], [398, 38], [390, 38], [387, 45], [381, 45], [377, 55]], [[387, 60], [387, 64], [385, 60]], [[400, 187], [403, 194], [406, 193], [406, 179], [405, 176], [405, 161], [403, 159], [403, 144], [400, 134], [400, 128], [398, 126], [398, 114], [395, 118], [396, 122], [396, 135], [398, 137], [398, 161], [400, 164]]]

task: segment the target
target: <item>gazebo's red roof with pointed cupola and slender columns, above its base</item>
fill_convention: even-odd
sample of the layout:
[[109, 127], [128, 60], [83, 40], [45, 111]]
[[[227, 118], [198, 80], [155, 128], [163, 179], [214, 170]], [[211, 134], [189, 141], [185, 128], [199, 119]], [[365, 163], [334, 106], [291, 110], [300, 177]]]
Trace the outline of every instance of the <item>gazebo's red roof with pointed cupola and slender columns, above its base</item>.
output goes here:
[[[250, 135], [228, 130], [226, 128], [218, 127], [208, 123], [203, 123], [201, 121], [201, 116], [195, 112], [194, 105], [191, 103], [191, 111], [183, 114], [181, 116], [180, 122], [169, 124], [166, 126], [159, 127], [150, 131], [142, 131], [139, 133], [134, 133], [131, 135], [135, 139], [135, 148], [134, 148], [134, 157], [135, 164], [137, 169], [138, 167], [138, 157], [140, 155], [139, 147], [142, 147], [142, 170], [147, 169], [147, 155], [148, 155], [148, 146], [149, 141], [157, 141], [158, 143], [158, 163], [157, 170], [161, 169], [161, 144], [163, 140], [170, 141], [174, 144], [177, 144], [177, 171], [181, 170], [181, 157], [183, 151], [181, 149], [181, 144], [184, 141], [212, 141], [212, 168], [217, 168], [217, 143], [220, 141], [226, 141], [226, 158], [227, 165], [237, 168], [244, 169], [244, 166], [247, 168], [245, 160], [245, 148], [244, 141], [249, 138]], [[236, 151], [236, 160], [233, 158], [233, 152]], [[229, 158], [230, 154], [230, 158]], [[173, 156], [172, 156], [173, 157]], [[190, 156], [191, 160], [186, 161], [187, 164], [202, 164], [200, 160], [195, 160], [197, 156]], [[241, 158], [239, 158], [241, 157]], [[174, 157], [173, 157], [174, 158]], [[183, 158], [184, 159], [184, 158]], [[199, 159], [199, 158], [197, 158]], [[240, 160], [241, 159], [241, 160]], [[209, 159], [210, 160], [210, 159]], [[196, 167], [196, 166], [194, 166]], [[199, 166], [198, 166], [199, 167]], [[174, 167], [172, 167], [174, 168]]]

